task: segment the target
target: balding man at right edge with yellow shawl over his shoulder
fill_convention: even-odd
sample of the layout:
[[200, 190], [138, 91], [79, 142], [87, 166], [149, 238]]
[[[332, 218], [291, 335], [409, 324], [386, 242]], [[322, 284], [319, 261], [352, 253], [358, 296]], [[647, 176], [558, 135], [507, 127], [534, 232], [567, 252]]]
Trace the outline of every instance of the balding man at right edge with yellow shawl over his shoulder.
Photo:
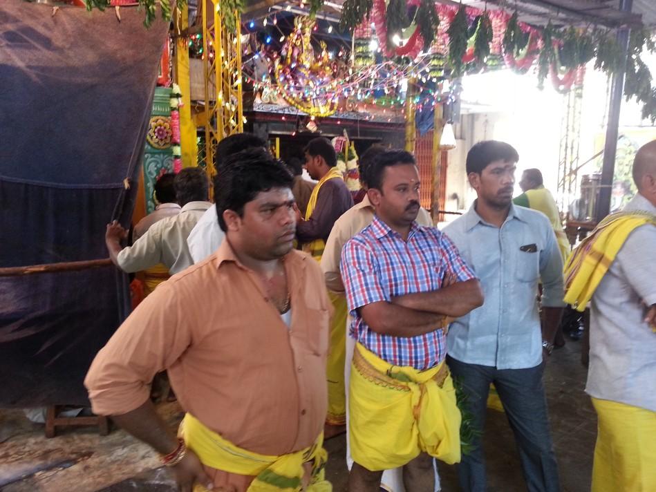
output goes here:
[[656, 491], [656, 140], [635, 156], [633, 179], [637, 195], [565, 267], [565, 301], [590, 302], [592, 492]]

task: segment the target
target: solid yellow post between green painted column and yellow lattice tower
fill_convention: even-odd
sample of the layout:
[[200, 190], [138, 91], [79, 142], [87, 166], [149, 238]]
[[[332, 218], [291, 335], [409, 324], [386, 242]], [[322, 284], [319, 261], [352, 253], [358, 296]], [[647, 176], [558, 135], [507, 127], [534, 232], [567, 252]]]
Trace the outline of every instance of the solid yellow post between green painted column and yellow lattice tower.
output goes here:
[[[176, 22], [177, 32], [186, 32], [189, 27], [189, 13], [185, 5], [178, 12]], [[191, 83], [189, 79], [189, 45], [187, 38], [176, 38], [174, 54], [174, 73], [176, 84], [182, 93], [180, 106], [180, 149], [182, 150], [182, 167], [198, 165], [198, 143], [196, 141], [196, 125], [191, 120]]]

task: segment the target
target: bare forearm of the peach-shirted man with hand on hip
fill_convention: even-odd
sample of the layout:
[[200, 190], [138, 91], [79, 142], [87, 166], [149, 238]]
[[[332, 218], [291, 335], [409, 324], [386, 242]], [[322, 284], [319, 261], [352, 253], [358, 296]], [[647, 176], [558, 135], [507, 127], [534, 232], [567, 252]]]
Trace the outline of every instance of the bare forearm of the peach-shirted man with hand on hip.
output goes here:
[[139, 408], [123, 415], [112, 415], [111, 418], [118, 426], [162, 455], [171, 453], [178, 446], [175, 433], [158, 415], [149, 399]]

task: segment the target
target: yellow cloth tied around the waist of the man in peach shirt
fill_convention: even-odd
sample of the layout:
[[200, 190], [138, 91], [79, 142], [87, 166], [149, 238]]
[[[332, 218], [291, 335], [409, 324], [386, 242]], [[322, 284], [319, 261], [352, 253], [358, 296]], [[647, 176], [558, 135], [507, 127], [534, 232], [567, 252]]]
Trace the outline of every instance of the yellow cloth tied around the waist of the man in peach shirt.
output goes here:
[[[260, 455], [235, 446], [187, 413], [180, 424], [180, 435], [185, 439], [187, 448], [194, 451], [205, 466], [254, 476], [255, 480], [247, 492], [332, 492], [330, 482], [325, 479], [328, 453], [323, 447], [323, 434], [319, 435], [315, 444], [297, 453]], [[302, 489], [305, 463], [312, 465], [312, 476], [308, 486]], [[202, 485], [194, 486], [194, 492], [206, 490]]]

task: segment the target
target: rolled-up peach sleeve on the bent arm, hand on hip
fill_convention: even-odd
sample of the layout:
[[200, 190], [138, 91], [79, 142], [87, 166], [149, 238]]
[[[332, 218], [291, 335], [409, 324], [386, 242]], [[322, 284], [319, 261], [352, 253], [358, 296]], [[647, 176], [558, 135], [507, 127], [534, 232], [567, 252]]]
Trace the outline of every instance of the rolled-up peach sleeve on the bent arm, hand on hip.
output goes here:
[[98, 352], [86, 386], [97, 415], [122, 415], [141, 406], [157, 372], [171, 366], [191, 344], [183, 306], [172, 287], [160, 285]]

